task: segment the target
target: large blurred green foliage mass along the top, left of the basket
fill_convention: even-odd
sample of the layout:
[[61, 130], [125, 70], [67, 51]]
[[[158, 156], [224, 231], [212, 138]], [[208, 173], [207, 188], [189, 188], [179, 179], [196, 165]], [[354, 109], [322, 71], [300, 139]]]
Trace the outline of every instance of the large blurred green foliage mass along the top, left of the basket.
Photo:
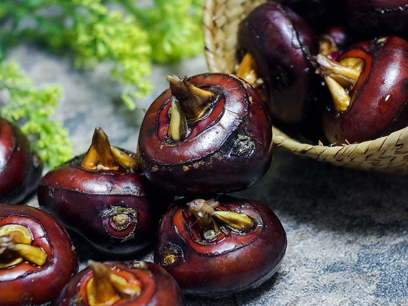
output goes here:
[[[69, 50], [77, 67], [112, 63], [111, 76], [124, 85], [125, 104], [151, 89], [151, 63], [165, 63], [202, 52], [203, 0], [154, 0], [138, 7], [131, 0], [15, 0], [0, 2], [0, 52], [22, 39], [50, 50]], [[0, 24], [1, 25], [1, 24]], [[0, 55], [0, 56], [1, 56]]]

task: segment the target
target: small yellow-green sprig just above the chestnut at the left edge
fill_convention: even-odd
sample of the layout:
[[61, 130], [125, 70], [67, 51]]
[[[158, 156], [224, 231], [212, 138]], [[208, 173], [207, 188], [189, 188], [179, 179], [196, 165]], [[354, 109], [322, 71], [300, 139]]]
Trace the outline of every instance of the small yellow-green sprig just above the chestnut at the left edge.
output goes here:
[[18, 64], [10, 62], [0, 65], [0, 90], [7, 97], [1, 108], [2, 117], [19, 125], [29, 137], [32, 149], [50, 168], [72, 157], [68, 131], [61, 122], [49, 119], [62, 95], [60, 86], [34, 88]]

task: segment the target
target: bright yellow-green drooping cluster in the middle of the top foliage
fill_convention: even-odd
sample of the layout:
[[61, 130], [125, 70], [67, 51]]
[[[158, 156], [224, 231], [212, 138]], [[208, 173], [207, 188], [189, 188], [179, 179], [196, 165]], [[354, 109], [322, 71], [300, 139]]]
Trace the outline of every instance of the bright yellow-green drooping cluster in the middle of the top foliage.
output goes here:
[[[75, 0], [78, 6], [91, 0]], [[91, 9], [92, 8], [92, 9]], [[134, 98], [141, 98], [151, 90], [151, 46], [148, 34], [136, 25], [133, 15], [121, 11], [109, 11], [105, 6], [88, 7], [82, 18], [74, 23], [76, 39], [71, 48], [77, 54], [75, 65], [96, 65], [100, 62], [113, 64], [111, 75], [126, 86], [123, 101], [130, 109], [135, 108]]]

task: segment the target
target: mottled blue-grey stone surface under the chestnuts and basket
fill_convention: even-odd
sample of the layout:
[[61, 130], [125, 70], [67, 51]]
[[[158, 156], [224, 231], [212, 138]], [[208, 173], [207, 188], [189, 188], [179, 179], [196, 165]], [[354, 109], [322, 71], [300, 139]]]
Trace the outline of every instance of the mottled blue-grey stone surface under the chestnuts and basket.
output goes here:
[[[167, 88], [167, 74], [206, 72], [203, 57], [154, 67], [155, 91], [130, 112], [108, 67], [79, 72], [67, 59], [35, 47], [10, 53], [36, 84], [61, 84], [55, 117], [64, 121], [75, 154], [101, 126], [113, 145], [134, 150], [143, 108]], [[268, 173], [239, 194], [265, 202], [287, 231], [278, 272], [259, 289], [222, 299], [187, 297], [194, 306], [408, 305], [408, 177], [367, 173], [302, 159], [274, 148]], [[34, 197], [30, 205], [36, 206]], [[81, 245], [80, 258], [95, 256]], [[151, 260], [151, 252], [140, 258]], [[239, 277], [239, 275], [237, 275]]]

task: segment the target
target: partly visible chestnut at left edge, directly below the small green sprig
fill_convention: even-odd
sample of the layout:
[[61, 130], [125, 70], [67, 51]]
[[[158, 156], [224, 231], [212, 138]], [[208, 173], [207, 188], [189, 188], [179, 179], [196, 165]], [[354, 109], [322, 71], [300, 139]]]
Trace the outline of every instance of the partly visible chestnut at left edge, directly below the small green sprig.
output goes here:
[[30, 150], [27, 136], [0, 118], [0, 202], [24, 200], [37, 188], [42, 169], [42, 160]]

